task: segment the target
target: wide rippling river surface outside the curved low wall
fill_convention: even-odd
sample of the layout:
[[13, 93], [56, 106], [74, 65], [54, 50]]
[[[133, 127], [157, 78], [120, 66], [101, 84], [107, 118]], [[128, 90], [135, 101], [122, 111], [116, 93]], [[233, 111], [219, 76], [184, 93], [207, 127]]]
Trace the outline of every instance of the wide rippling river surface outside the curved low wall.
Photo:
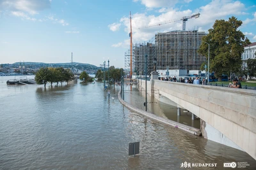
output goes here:
[[[117, 99], [118, 86], [108, 99], [103, 83], [44, 88], [6, 85], [8, 79], [0, 77], [0, 169], [180, 169], [184, 162], [217, 164], [194, 169], [248, 162], [256, 169], [245, 152], [128, 110]], [[136, 141], [140, 154], [129, 156]]]

